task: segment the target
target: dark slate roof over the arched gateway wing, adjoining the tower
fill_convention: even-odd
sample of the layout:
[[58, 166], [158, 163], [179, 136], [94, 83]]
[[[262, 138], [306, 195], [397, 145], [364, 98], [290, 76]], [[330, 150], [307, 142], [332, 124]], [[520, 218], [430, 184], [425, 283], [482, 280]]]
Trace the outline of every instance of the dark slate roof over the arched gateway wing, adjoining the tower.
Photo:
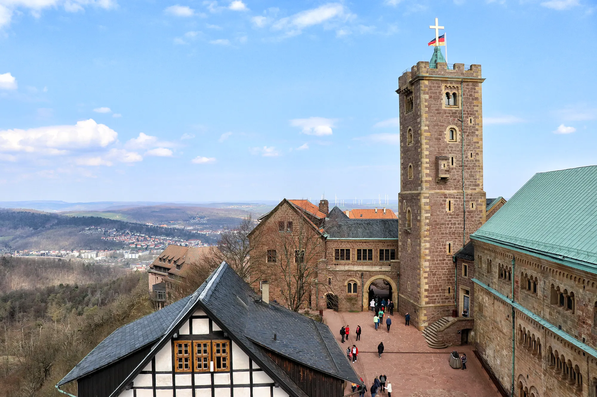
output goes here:
[[334, 207], [324, 224], [327, 238], [362, 239], [395, 238], [398, 240], [398, 219], [350, 219]]

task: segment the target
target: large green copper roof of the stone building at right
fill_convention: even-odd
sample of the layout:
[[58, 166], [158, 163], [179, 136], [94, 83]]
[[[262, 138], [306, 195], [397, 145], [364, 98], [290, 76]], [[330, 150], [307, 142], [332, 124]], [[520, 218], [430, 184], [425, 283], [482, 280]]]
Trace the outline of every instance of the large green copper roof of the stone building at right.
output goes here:
[[597, 166], [536, 173], [470, 237], [597, 273]]

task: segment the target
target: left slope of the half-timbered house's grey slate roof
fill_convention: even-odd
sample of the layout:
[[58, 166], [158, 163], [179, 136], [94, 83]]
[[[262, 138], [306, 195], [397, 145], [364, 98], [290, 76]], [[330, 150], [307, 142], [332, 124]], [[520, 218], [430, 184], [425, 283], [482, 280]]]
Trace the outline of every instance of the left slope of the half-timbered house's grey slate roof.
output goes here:
[[79, 364], [75, 365], [75, 368], [70, 370], [58, 383], [59, 386], [99, 370], [150, 343], [156, 342], [166, 333], [168, 327], [180, 314], [181, 309], [189, 302], [189, 299], [190, 296], [184, 297], [164, 309], [118, 328], [89, 352]]

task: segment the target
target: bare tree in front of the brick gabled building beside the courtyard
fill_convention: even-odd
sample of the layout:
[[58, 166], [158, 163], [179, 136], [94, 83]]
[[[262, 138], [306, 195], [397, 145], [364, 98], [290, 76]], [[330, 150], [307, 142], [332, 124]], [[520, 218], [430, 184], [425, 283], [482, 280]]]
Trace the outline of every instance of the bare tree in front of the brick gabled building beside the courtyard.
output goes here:
[[269, 258], [269, 262], [275, 260], [277, 266], [271, 266], [269, 271], [270, 278], [279, 286], [285, 306], [298, 312], [315, 287], [319, 262], [325, 252], [325, 241], [318, 227], [305, 216], [293, 223], [290, 230], [287, 224], [285, 232], [275, 235], [273, 243], [276, 258]]

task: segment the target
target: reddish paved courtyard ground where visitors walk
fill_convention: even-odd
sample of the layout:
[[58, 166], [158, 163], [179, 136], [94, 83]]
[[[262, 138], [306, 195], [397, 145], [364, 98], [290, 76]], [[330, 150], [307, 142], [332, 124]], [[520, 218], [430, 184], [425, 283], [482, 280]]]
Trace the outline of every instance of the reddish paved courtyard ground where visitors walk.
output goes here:
[[[359, 348], [353, 363], [356, 372], [365, 380], [367, 389], [380, 374], [392, 383], [392, 394], [400, 397], [500, 397], [496, 386], [475, 357], [472, 346], [450, 346], [432, 349], [423, 334], [413, 326], [404, 325], [404, 317], [394, 314], [388, 333], [385, 325], [375, 330], [372, 312], [334, 312], [327, 310], [324, 318], [340, 342], [340, 328], [348, 324], [348, 343], [340, 343], [346, 350], [350, 345]], [[361, 325], [361, 340], [355, 340], [356, 326]], [[377, 345], [383, 342], [384, 353], [377, 356]], [[450, 367], [450, 352], [466, 353], [466, 370]], [[350, 392], [350, 384], [346, 393]], [[371, 394], [367, 392], [366, 396]], [[387, 396], [387, 393], [381, 393]]]

